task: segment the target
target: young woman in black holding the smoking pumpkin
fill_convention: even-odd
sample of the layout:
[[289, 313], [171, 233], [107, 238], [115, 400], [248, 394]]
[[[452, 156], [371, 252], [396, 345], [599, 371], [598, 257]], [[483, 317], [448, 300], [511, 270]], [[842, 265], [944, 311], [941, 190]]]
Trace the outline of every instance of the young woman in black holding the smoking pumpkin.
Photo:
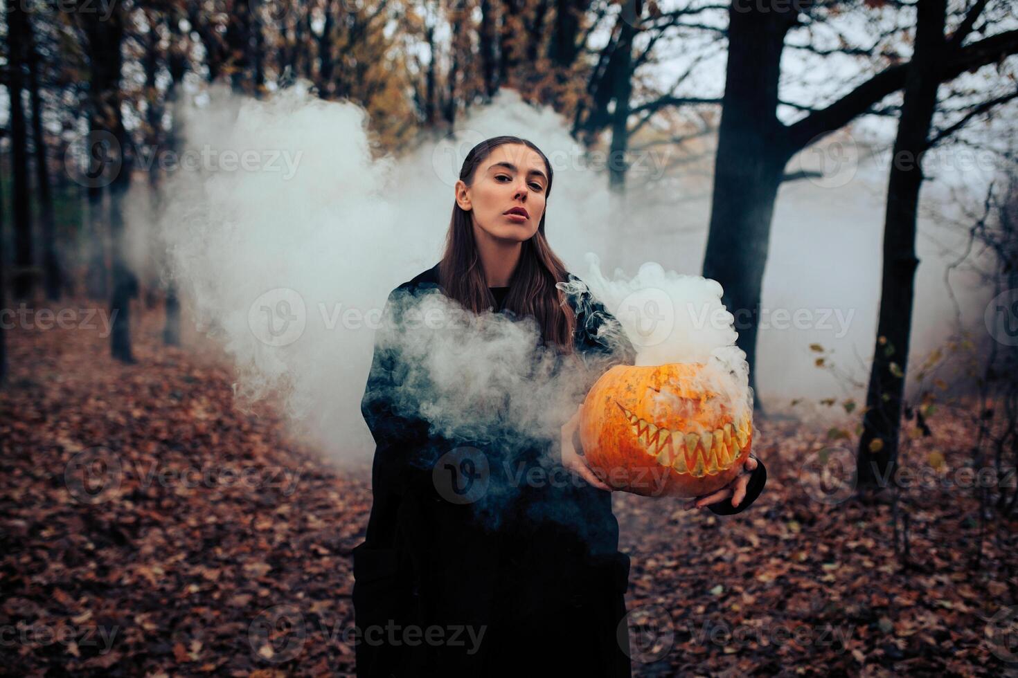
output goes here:
[[[438, 292], [473, 313], [535, 318], [542, 346], [596, 366], [587, 385], [612, 364], [633, 364], [628, 342], [599, 334], [603, 323], [617, 326], [602, 304], [556, 288], [569, 272], [545, 239], [552, 178], [548, 159], [525, 139], [499, 136], [471, 149], [442, 260], [394, 290], [386, 316], [407, 298]], [[496, 519], [482, 519], [484, 502], [449, 501], [434, 480], [430, 465], [456, 441], [393, 407], [410, 366], [390, 347], [377, 337], [361, 402], [377, 448], [367, 531], [353, 552], [357, 676], [629, 676], [629, 558], [618, 551], [610, 488], [576, 449], [578, 411], [559, 440], [526, 451], [582, 481], [489, 492], [510, 499], [493, 504]], [[517, 458], [541, 467], [532, 454]], [[510, 482], [500, 465], [490, 468], [491, 483]], [[750, 457], [729, 486], [687, 506], [739, 512], [765, 480]]]

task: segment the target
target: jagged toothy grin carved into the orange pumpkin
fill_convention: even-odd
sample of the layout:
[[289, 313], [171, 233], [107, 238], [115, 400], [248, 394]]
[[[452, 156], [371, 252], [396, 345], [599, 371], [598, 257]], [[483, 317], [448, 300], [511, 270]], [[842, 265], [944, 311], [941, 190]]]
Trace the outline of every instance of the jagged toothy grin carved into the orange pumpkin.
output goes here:
[[744, 424], [733, 427], [727, 423], [714, 431], [682, 434], [640, 419], [619, 403], [616, 405], [647, 455], [679, 474], [695, 478], [716, 476], [732, 467], [749, 439]]

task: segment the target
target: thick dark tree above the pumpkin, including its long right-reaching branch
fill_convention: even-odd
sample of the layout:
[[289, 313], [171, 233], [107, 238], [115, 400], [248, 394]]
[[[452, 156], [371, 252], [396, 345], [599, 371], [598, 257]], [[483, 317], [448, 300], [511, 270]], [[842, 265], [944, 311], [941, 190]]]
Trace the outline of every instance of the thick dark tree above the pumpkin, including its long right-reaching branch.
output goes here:
[[[754, 390], [760, 284], [780, 175], [795, 152], [901, 89], [909, 68], [909, 64], [889, 66], [825, 108], [782, 125], [776, 107], [785, 35], [810, 4], [810, 0], [802, 0], [797, 12], [759, 5], [733, 5], [729, 11], [727, 80], [702, 272], [725, 289], [725, 304], [736, 315], [738, 344], [746, 353]], [[1018, 30], [960, 47], [959, 38], [972, 29], [982, 7], [982, 3], [975, 3], [959, 26], [948, 50], [950, 57], [938, 73], [940, 81], [999, 63], [1018, 52]], [[759, 397], [754, 398], [754, 406], [762, 414]]]

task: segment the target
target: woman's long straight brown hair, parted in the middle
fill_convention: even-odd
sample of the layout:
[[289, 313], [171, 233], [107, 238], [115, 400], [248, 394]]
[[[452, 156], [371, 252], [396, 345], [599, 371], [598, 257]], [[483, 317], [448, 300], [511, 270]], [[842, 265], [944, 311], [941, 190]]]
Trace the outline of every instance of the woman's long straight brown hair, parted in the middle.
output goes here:
[[[517, 136], [495, 136], [486, 139], [470, 149], [459, 171], [459, 178], [467, 186], [473, 184], [474, 173], [492, 150], [504, 143], [521, 143], [529, 146], [545, 161], [548, 171], [548, 187], [545, 198], [552, 192], [552, 166], [541, 148]], [[545, 239], [545, 213], [533, 237], [523, 242], [519, 263], [509, 282], [509, 294], [505, 308], [517, 317], [532, 316], [541, 326], [546, 345], [557, 347], [563, 354], [573, 352], [573, 332], [576, 316], [566, 303], [564, 293], [555, 287], [566, 282], [566, 267], [555, 255]], [[474, 313], [495, 306], [495, 297], [488, 289], [485, 270], [480, 265], [480, 255], [473, 237], [473, 222], [470, 212], [453, 202], [452, 220], [446, 236], [445, 252], [439, 263], [441, 285], [448, 295]]]

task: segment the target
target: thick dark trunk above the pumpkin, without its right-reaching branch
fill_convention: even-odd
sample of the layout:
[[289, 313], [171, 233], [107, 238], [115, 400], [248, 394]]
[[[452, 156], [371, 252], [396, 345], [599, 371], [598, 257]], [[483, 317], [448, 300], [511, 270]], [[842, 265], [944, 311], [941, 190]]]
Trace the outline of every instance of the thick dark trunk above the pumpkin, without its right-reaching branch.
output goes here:
[[[790, 16], [790, 14], [792, 14]], [[704, 278], [721, 283], [738, 346], [753, 366], [760, 290], [778, 186], [790, 157], [776, 116], [778, 78], [790, 12], [729, 11], [725, 96], [715, 165]], [[753, 407], [762, 413], [759, 397]]]

